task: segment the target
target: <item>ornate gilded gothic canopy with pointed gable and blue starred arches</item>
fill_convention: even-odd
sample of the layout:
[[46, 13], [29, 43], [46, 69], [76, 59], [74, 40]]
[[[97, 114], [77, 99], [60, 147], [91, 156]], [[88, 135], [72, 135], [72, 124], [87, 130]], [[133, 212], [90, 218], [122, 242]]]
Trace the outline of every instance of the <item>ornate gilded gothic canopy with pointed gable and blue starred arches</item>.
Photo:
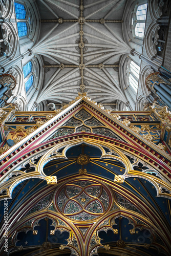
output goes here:
[[9, 255], [170, 254], [167, 108], [111, 112], [86, 94], [58, 111], [16, 108], [1, 110]]

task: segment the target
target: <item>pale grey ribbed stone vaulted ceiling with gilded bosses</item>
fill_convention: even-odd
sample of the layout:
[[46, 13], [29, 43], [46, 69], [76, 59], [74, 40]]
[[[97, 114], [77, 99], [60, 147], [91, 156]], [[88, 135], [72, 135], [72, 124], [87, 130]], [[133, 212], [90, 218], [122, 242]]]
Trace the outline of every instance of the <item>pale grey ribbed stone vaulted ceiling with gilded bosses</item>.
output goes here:
[[127, 101], [119, 82], [120, 57], [131, 51], [122, 35], [125, 2], [36, 1], [41, 23], [32, 50], [45, 65], [37, 103], [68, 102], [78, 92], [102, 103]]

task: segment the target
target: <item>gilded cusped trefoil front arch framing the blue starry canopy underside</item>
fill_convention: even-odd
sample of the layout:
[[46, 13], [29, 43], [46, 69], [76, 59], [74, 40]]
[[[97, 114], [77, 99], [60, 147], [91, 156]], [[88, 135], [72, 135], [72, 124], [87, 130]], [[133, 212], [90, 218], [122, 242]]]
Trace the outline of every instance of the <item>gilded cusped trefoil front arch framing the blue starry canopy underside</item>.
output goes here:
[[[102, 136], [103, 137], [103, 136]], [[53, 141], [55, 141], [53, 139]], [[65, 141], [59, 142], [57, 145], [56, 143], [53, 143], [54, 146], [51, 146], [51, 144], [48, 144], [49, 141], [47, 141], [47, 145], [50, 145], [50, 149], [47, 150], [47, 146], [44, 146], [44, 150], [41, 150], [41, 145], [38, 145], [37, 148], [35, 148], [35, 154], [34, 156], [31, 156], [27, 160], [22, 160], [22, 162], [19, 162], [17, 164], [17, 170], [22, 170], [22, 168], [29, 164], [29, 168], [33, 167], [33, 170], [31, 169], [31, 172], [22, 174], [19, 177], [19, 180], [14, 177], [14, 179], [10, 178], [10, 173], [16, 171], [15, 168], [11, 168], [10, 172], [7, 173], [5, 176], [3, 176], [3, 186], [1, 187], [1, 190], [5, 189], [7, 191], [7, 194], [5, 195], [7, 198], [10, 198], [12, 195], [12, 191], [14, 187], [19, 184], [20, 182], [31, 179], [31, 178], [40, 178], [43, 180], [47, 180], [47, 173], [44, 172], [44, 167], [51, 161], [68, 161], [67, 157], [67, 152], [69, 149], [72, 147], [78, 146], [78, 145], [88, 145], [90, 147], [95, 147], [98, 148], [98, 150], [101, 152], [100, 155], [98, 156], [99, 160], [105, 160], [105, 161], [117, 161], [119, 166], [122, 168], [122, 172], [119, 173], [116, 172], [115, 174], [113, 173], [113, 176], [109, 178], [109, 180], [116, 180], [114, 182], [116, 183], [124, 183], [125, 180], [129, 178], [136, 178], [139, 177], [141, 179], [147, 180], [148, 182], [151, 182], [153, 186], [157, 190], [157, 196], [158, 197], [166, 197], [170, 198], [171, 196], [171, 186], [167, 182], [167, 180], [162, 176], [162, 174], [157, 170], [157, 168], [154, 168], [153, 165], [151, 166], [151, 163], [145, 163], [143, 160], [138, 158], [137, 156], [135, 157], [134, 154], [131, 155], [130, 152], [127, 152], [125, 150], [119, 150], [118, 147], [116, 147], [113, 143], [106, 143], [103, 141], [99, 140], [94, 140], [94, 139], [87, 139], [87, 138], [80, 138], [80, 139], [74, 139], [72, 142], [70, 141]], [[122, 143], [122, 142], [120, 142]], [[42, 143], [45, 144], [45, 143]], [[37, 153], [40, 150], [39, 153]], [[28, 152], [29, 154], [29, 152]], [[132, 160], [130, 160], [132, 159]], [[141, 167], [137, 167], [138, 170], [134, 168], [134, 166], [137, 166], [139, 163], [140, 166], [144, 165], [146, 166], [145, 170], [139, 171]], [[106, 165], [108, 166], [108, 164]], [[147, 170], [152, 170], [147, 172]], [[74, 170], [74, 173], [72, 175], [76, 175], [78, 172], [78, 169]], [[93, 175], [95, 175], [94, 170], [91, 170], [93, 172]], [[149, 174], [148, 174], [149, 173]], [[151, 173], [156, 173], [156, 175], [151, 175]], [[115, 177], [116, 176], [116, 177]], [[164, 190], [163, 190], [164, 188]], [[3, 195], [0, 197], [3, 199]]]

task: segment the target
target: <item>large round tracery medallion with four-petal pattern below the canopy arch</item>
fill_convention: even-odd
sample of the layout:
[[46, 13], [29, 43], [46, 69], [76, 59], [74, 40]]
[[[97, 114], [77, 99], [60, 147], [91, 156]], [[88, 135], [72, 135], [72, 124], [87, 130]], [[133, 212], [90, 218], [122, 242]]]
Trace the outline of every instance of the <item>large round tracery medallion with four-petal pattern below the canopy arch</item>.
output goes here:
[[104, 184], [83, 179], [62, 185], [57, 190], [55, 203], [65, 217], [88, 222], [109, 210], [112, 194]]

